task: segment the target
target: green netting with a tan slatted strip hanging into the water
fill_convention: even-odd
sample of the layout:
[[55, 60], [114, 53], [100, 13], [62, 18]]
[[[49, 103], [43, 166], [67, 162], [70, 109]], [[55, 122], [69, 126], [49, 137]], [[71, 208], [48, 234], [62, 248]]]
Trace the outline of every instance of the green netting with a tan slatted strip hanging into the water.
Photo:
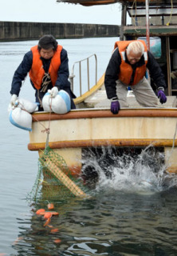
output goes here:
[[37, 178], [27, 198], [36, 201], [74, 196], [87, 197], [85, 186], [80, 178], [73, 177], [65, 159], [48, 146], [38, 160]]

